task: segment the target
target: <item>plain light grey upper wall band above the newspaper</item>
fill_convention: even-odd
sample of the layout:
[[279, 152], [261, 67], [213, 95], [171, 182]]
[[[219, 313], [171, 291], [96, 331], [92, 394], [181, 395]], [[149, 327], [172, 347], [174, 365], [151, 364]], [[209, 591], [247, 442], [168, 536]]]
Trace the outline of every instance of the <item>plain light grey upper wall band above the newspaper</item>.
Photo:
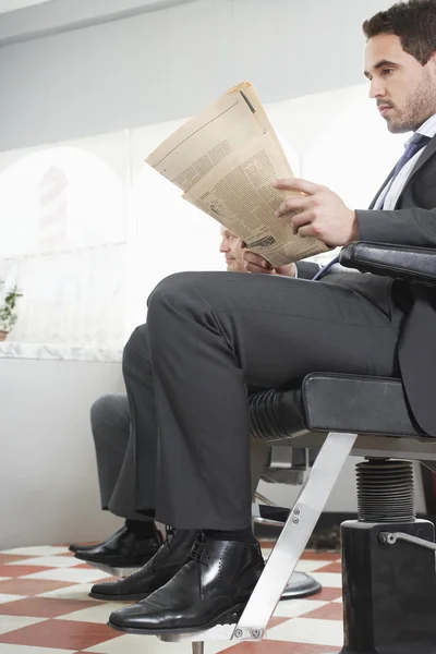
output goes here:
[[[0, 150], [191, 116], [246, 78], [264, 102], [358, 84], [361, 24], [390, 3], [197, 0], [3, 46]], [[84, 11], [83, 2], [59, 0], [5, 14], [0, 24], [16, 33], [43, 16], [50, 25], [58, 5], [74, 21], [74, 4]], [[3, 28], [3, 43], [7, 36]]]

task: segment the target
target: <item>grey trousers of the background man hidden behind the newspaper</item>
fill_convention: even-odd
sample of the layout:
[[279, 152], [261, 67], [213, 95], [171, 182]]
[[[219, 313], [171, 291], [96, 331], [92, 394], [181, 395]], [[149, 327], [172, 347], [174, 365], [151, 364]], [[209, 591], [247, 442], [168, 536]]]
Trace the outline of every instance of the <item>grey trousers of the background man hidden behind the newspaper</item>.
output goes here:
[[[129, 354], [128, 354], [129, 356]], [[145, 432], [146, 447], [141, 470], [156, 482], [156, 432], [154, 422]], [[98, 482], [101, 508], [130, 520], [150, 520], [135, 511], [135, 457], [132, 438], [129, 400], [123, 393], [106, 395], [96, 400], [90, 410], [90, 425], [97, 457]], [[252, 444], [253, 493], [269, 455], [269, 446]], [[152, 484], [148, 485], [152, 488]], [[154, 510], [155, 493], [143, 497], [146, 506]]]

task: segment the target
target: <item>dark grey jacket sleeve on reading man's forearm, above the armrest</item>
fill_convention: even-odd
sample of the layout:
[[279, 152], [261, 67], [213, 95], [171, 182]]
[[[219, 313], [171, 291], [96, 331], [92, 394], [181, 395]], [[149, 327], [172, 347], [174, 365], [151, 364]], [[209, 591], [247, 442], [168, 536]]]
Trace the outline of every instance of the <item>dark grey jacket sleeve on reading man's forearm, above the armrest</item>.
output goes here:
[[436, 247], [436, 209], [358, 210], [356, 215], [361, 241]]

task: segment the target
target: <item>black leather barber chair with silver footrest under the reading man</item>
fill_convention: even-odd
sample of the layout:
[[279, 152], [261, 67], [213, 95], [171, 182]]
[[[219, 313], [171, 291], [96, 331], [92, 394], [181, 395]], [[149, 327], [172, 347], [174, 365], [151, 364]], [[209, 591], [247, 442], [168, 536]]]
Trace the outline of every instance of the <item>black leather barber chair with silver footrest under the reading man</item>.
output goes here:
[[[436, 252], [353, 243], [344, 266], [436, 286]], [[161, 640], [261, 641], [349, 456], [358, 464], [359, 517], [341, 525], [341, 654], [435, 654], [434, 525], [416, 520], [412, 461], [436, 470], [436, 440], [408, 409], [400, 379], [311, 374], [301, 389], [251, 398], [252, 437], [320, 448], [265, 570], [237, 625]], [[290, 644], [290, 651], [292, 645]]]

